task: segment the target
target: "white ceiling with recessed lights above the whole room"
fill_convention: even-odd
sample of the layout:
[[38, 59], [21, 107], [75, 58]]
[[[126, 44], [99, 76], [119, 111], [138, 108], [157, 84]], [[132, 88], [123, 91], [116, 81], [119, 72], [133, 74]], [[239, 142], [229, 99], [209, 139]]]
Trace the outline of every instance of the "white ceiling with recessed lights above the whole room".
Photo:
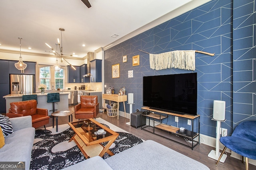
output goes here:
[[63, 54], [85, 57], [190, 1], [89, 0], [87, 8], [81, 0], [0, 0], [0, 49], [20, 51], [22, 37], [22, 52], [50, 54], [45, 43], [56, 49], [64, 28]]

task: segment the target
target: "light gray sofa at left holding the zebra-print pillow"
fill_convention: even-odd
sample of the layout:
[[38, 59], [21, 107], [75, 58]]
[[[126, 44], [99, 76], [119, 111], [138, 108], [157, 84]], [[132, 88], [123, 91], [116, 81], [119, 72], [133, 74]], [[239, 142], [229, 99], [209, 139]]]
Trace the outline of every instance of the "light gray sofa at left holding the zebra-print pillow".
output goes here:
[[25, 168], [29, 170], [35, 137], [32, 117], [14, 117], [10, 121], [14, 133], [4, 138], [5, 145], [0, 149], [0, 162], [25, 162]]

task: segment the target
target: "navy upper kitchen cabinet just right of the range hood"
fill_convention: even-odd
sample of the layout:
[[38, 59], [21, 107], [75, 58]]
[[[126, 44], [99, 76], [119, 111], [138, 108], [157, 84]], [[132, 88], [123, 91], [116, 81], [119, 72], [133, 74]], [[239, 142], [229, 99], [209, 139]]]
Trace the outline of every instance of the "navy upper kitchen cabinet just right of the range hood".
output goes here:
[[91, 82], [102, 82], [102, 60], [90, 61]]

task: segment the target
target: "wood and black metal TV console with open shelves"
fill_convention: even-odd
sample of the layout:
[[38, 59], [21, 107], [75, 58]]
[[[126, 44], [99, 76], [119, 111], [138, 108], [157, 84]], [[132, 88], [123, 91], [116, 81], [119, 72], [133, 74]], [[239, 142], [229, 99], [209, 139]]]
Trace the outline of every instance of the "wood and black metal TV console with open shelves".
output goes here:
[[[192, 150], [196, 145], [199, 145], [200, 143], [200, 115], [182, 115], [182, 114], [177, 114], [177, 113], [170, 113], [167, 111], [160, 111], [157, 109], [151, 109], [150, 107], [142, 107], [142, 111], [146, 110], [149, 111], [150, 113], [148, 115], [142, 114], [142, 116], [146, 116], [149, 119], [149, 124], [148, 125], [142, 125], [141, 129], [149, 131], [151, 133], [154, 133], [156, 135], [160, 135], [162, 137], [165, 137], [167, 139], [170, 139], [172, 141], [176, 141], [178, 143], [181, 143], [183, 145], [186, 145], [190, 147]], [[154, 112], [154, 113], [152, 113]], [[162, 114], [161, 114], [162, 113]], [[188, 133], [177, 133], [180, 128], [178, 127], [173, 127], [167, 124], [162, 123], [163, 119], [168, 119], [169, 116], [177, 116], [177, 117], [182, 117], [184, 119], [191, 119], [191, 126], [192, 130], [186, 130]], [[153, 126], [150, 126], [150, 119], [153, 120]], [[197, 132], [194, 132], [194, 121], [198, 120], [198, 127], [197, 127]], [[158, 121], [158, 125], [155, 125], [155, 121]], [[160, 130], [160, 131], [159, 131]], [[164, 132], [163, 132], [164, 131]], [[159, 133], [160, 132], [160, 133]], [[166, 132], [166, 134], [165, 134]], [[171, 134], [171, 135], [170, 135]], [[188, 134], [192, 134], [191, 136]], [[184, 141], [178, 141], [174, 140], [174, 136], [176, 137], [183, 137], [185, 139], [188, 139], [190, 143], [184, 142]]]

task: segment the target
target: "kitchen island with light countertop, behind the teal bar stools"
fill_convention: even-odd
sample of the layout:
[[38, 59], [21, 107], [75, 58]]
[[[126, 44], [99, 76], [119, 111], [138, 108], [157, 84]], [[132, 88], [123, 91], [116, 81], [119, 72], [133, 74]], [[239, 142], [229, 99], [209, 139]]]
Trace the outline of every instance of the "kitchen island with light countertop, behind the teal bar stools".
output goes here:
[[[58, 110], [65, 110], [68, 109], [68, 94], [70, 92], [59, 92], [59, 91], [54, 91], [55, 93], [60, 93], [60, 102], [56, 102], [55, 104], [55, 109]], [[10, 109], [10, 103], [11, 102], [20, 102], [22, 101], [22, 96], [23, 95], [30, 95], [30, 94], [36, 94], [37, 95], [37, 108], [42, 108], [42, 109], [48, 109], [48, 115], [52, 114], [52, 103], [47, 103], [47, 93], [41, 94], [41, 93], [29, 93], [29, 94], [8, 94], [6, 96], [3, 96], [6, 100], [6, 112], [9, 112]]]

